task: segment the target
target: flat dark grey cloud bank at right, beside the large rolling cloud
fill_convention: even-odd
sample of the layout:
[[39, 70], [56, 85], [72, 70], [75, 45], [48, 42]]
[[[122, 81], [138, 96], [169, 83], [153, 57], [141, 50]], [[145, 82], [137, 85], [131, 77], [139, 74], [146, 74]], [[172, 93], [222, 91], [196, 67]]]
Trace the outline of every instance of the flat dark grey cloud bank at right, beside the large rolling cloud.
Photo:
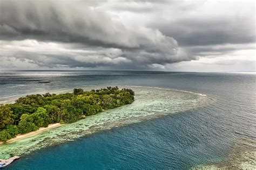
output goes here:
[[172, 35], [180, 46], [247, 44], [255, 42], [254, 19], [186, 18], [156, 27], [167, 36]]

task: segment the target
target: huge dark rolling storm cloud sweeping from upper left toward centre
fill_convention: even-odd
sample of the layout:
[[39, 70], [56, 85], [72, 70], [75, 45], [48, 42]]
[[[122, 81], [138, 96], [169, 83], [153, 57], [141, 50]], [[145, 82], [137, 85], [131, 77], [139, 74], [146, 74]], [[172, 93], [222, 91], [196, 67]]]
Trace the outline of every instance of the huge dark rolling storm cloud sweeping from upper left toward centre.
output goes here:
[[90, 2], [1, 1], [0, 11], [2, 40], [36, 39], [118, 48], [123, 51], [122, 57], [139, 65], [187, 60], [177, 58], [178, 46], [173, 38], [150, 27], [126, 26], [104, 10], [93, 9]]

